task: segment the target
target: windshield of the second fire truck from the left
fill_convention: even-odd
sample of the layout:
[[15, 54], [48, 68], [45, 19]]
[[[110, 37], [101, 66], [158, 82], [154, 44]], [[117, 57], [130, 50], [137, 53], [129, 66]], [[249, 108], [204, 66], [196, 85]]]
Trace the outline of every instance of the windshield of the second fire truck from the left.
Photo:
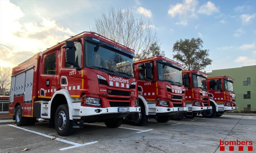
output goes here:
[[157, 71], [159, 80], [182, 83], [181, 71], [176, 68], [167, 66], [166, 64], [158, 63]]

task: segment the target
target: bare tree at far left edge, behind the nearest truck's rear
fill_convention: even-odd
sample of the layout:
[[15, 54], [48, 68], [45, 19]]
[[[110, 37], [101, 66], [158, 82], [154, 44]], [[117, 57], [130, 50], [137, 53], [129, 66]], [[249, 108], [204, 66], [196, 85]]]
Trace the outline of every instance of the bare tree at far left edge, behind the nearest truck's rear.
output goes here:
[[5, 90], [10, 89], [12, 69], [10, 67], [0, 66], [0, 89], [5, 95]]

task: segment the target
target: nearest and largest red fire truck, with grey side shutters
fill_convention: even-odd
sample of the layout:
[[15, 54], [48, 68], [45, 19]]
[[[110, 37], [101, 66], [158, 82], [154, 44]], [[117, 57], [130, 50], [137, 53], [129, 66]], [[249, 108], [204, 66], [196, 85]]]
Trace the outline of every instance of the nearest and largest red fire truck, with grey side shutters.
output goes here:
[[49, 120], [62, 136], [84, 122], [119, 127], [140, 112], [134, 58], [99, 34], [72, 36], [12, 69], [10, 114], [18, 126]]

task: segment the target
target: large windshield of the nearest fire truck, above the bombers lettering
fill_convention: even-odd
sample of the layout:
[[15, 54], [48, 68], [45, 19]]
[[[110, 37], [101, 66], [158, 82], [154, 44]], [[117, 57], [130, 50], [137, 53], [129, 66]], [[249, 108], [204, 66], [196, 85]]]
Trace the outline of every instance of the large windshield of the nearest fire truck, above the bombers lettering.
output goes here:
[[[86, 66], [134, 76], [133, 58], [105, 45], [86, 40]], [[96, 49], [95, 49], [96, 48]]]

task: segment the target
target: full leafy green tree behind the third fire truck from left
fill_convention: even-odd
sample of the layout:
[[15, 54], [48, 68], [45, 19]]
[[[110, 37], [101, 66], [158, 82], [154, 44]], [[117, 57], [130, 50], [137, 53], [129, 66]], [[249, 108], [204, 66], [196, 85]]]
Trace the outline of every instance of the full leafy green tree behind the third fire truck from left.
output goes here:
[[212, 64], [212, 60], [207, 58], [209, 50], [203, 50], [203, 41], [201, 38], [192, 38], [176, 41], [172, 52], [176, 53], [173, 58], [184, 64], [184, 70], [203, 70], [206, 66]]

